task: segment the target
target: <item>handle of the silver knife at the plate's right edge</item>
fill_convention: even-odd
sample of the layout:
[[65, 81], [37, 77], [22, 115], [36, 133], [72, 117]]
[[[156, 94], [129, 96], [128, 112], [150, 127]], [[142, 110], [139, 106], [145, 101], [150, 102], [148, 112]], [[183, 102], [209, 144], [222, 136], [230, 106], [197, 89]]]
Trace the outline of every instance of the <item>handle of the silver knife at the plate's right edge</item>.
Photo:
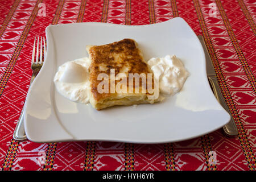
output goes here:
[[238, 135], [238, 130], [236, 123], [234, 122], [234, 118], [232, 117], [232, 114], [229, 111], [228, 105], [226, 105], [226, 102], [224, 100], [224, 97], [222, 96], [222, 93], [220, 91], [220, 87], [218, 86], [218, 80], [216, 77], [208, 77], [208, 80], [210, 82], [210, 85], [212, 85], [213, 93], [216, 96], [218, 102], [220, 102], [221, 106], [229, 113], [230, 115], [230, 121], [223, 127], [225, 133], [229, 136], [236, 136]]

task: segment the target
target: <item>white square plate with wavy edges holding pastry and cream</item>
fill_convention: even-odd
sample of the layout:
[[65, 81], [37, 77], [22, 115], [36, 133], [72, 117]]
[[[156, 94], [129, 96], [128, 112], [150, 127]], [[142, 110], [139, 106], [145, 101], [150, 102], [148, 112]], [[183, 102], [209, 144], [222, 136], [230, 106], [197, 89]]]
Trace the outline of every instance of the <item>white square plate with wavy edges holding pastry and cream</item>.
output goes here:
[[[27, 97], [25, 130], [34, 142], [108, 140], [165, 143], [195, 138], [228, 123], [230, 116], [210, 89], [199, 39], [182, 18], [145, 26], [73, 23], [48, 26], [46, 61]], [[69, 101], [55, 89], [57, 68], [88, 56], [86, 45], [131, 38], [145, 60], [177, 55], [191, 74], [183, 89], [154, 105], [119, 106], [97, 111]]]

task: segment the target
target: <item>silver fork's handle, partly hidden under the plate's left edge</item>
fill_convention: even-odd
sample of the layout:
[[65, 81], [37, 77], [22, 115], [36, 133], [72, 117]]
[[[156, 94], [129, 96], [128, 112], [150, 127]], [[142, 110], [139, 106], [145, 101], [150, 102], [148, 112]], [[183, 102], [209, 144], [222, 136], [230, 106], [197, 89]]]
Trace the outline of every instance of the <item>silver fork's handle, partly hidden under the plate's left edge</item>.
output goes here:
[[[33, 71], [32, 77], [31, 77], [31, 80], [30, 80], [30, 85], [34, 81], [36, 75], [38, 75], [39, 71], [40, 71], [40, 69], [35, 69]], [[26, 105], [26, 101], [24, 103], [24, 106], [25, 105]], [[20, 113], [18, 123], [17, 123], [17, 125], [15, 127], [15, 130], [14, 130], [14, 133], [13, 133], [13, 138], [15, 140], [19, 140], [19, 141], [27, 139], [27, 136], [26, 136], [26, 133], [25, 133], [25, 128], [24, 128], [24, 106], [23, 106], [22, 112]]]

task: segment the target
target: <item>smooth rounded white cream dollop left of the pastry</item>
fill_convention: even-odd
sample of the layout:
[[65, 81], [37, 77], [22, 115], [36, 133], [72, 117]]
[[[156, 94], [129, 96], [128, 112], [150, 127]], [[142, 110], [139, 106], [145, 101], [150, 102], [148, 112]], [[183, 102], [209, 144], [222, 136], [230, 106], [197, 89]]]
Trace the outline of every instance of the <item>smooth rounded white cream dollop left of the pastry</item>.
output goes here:
[[83, 57], [61, 65], [54, 77], [57, 91], [71, 101], [89, 103], [90, 59]]

